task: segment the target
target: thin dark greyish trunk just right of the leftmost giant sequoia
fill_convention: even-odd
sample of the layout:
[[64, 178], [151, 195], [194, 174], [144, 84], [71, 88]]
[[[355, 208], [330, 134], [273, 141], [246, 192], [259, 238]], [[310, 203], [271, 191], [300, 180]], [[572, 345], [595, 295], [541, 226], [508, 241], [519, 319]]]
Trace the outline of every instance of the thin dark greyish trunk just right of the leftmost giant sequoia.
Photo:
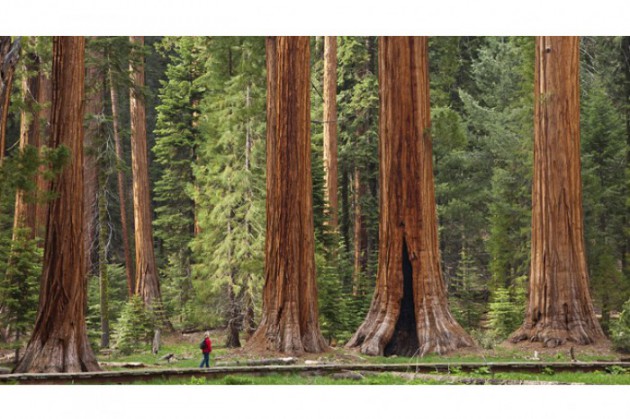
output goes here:
[[109, 230], [107, 226], [107, 176], [103, 167], [98, 173], [98, 271], [101, 305], [101, 348], [109, 347], [109, 276], [107, 248]]

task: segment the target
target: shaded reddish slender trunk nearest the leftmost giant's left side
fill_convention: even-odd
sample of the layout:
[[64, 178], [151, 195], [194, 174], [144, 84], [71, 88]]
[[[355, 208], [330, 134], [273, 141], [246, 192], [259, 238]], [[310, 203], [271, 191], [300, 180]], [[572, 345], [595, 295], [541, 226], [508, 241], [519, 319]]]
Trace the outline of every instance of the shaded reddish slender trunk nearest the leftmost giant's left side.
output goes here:
[[[52, 84], [48, 76], [40, 69], [39, 72], [39, 96], [37, 102], [40, 109], [37, 115], [37, 123], [39, 124], [39, 135], [36, 137], [35, 146], [41, 151], [43, 146], [50, 145], [50, 100], [52, 96]], [[48, 217], [48, 199], [47, 192], [49, 181], [44, 177], [43, 171], [45, 166], [41, 166], [37, 172], [37, 191], [40, 199], [35, 204], [35, 234], [37, 237], [45, 237], [46, 235], [46, 219]], [[43, 241], [40, 241], [43, 246]]]

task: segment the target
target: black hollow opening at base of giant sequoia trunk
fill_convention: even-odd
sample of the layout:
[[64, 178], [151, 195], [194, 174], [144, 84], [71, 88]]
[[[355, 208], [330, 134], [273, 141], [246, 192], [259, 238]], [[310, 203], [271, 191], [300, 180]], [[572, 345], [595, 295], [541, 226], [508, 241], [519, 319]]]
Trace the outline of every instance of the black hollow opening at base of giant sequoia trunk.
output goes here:
[[416, 313], [413, 304], [413, 268], [407, 252], [407, 242], [403, 240], [403, 296], [400, 314], [394, 334], [385, 347], [385, 355], [413, 356], [418, 352], [418, 335], [416, 334]]

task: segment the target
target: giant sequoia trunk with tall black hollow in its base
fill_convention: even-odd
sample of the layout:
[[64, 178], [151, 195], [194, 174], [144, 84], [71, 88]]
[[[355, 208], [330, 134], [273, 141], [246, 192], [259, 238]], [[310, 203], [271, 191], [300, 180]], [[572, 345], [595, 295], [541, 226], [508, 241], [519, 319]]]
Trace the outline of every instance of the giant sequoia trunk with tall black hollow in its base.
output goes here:
[[380, 221], [372, 305], [348, 342], [369, 355], [443, 354], [473, 345], [448, 309], [440, 271], [427, 39], [379, 41]]

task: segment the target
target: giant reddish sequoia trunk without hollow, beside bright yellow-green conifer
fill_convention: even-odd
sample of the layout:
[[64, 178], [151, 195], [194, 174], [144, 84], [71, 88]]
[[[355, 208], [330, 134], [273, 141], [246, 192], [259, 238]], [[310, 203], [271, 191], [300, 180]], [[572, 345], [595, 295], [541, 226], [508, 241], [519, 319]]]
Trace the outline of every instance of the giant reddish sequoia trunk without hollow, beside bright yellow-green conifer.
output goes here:
[[265, 286], [250, 349], [326, 349], [315, 282], [309, 55], [308, 37], [267, 38]]

